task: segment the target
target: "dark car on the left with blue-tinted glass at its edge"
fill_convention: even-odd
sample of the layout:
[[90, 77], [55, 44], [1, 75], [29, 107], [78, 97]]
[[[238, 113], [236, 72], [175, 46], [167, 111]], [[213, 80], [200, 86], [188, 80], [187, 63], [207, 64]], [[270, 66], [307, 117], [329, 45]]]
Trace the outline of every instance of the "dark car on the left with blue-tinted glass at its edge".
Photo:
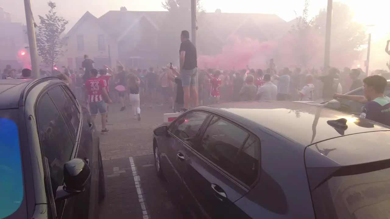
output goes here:
[[99, 133], [69, 87], [0, 80], [0, 218], [97, 218], [104, 197]]

